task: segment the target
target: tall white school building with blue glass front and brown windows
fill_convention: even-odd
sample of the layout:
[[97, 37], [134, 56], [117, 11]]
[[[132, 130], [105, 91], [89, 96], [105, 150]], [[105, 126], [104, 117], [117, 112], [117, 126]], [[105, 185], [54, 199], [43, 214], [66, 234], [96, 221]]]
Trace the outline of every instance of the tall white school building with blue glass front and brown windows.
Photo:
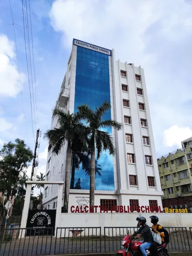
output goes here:
[[[123, 124], [121, 131], [108, 129], [114, 138], [116, 155], [103, 152], [96, 159], [95, 205], [160, 206], [161, 184], [144, 70], [131, 63], [115, 61], [115, 52], [73, 39], [72, 53], [67, 64], [56, 107], [77, 111], [86, 103], [95, 109], [104, 100], [111, 109], [106, 119]], [[51, 129], [57, 124], [52, 119]], [[59, 155], [48, 152], [46, 179], [64, 181], [66, 145]], [[71, 207], [89, 205], [89, 170], [73, 170], [69, 195]], [[43, 205], [57, 207], [57, 185], [45, 185]]]

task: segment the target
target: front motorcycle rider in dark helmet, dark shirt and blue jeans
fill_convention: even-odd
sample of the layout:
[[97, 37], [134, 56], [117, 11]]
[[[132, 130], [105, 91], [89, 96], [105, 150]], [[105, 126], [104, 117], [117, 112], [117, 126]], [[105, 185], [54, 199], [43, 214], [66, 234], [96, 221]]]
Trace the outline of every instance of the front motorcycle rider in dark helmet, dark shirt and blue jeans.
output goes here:
[[144, 237], [143, 244], [140, 245], [140, 250], [144, 256], [147, 256], [146, 249], [149, 249], [152, 242], [153, 237], [150, 231], [149, 226], [146, 224], [146, 219], [143, 216], [137, 217], [136, 219], [139, 223], [140, 229], [132, 234], [132, 237], [136, 236], [135, 238], [139, 238], [140, 236]]

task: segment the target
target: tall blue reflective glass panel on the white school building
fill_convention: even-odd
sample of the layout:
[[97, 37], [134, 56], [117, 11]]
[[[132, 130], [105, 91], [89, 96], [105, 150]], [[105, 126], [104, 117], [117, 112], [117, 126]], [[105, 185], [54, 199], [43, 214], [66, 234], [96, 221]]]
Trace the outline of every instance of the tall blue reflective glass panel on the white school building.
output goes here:
[[[110, 102], [108, 55], [77, 46], [74, 112], [84, 103], [95, 110], [104, 100]], [[103, 119], [111, 119], [110, 110]], [[105, 131], [111, 134], [111, 128]], [[113, 158], [108, 152], [96, 159], [96, 171], [96, 190], [114, 190]], [[89, 179], [80, 167], [74, 172], [73, 188], [89, 189]]]

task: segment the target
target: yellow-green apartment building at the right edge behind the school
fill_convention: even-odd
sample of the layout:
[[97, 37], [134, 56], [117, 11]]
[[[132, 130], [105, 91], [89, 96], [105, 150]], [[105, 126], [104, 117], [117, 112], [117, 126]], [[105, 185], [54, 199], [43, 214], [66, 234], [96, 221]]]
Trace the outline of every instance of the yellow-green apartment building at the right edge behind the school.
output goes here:
[[157, 159], [163, 207], [188, 208], [192, 212], [192, 137], [182, 148]]

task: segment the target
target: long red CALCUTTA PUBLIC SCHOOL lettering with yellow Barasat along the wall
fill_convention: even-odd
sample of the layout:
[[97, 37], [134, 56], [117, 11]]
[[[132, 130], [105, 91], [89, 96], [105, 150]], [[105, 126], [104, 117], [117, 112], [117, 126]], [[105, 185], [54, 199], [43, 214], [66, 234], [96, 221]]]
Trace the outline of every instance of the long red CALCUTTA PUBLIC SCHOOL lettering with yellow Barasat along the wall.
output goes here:
[[[79, 205], [71, 207], [72, 213], [133, 213], [135, 212], [135, 207], [133, 206], [111, 206], [110, 210], [106, 206], [93, 206], [89, 207], [87, 205]], [[136, 212], [138, 213], [163, 213], [163, 210], [160, 206], [137, 206]], [[185, 209], [169, 209], [165, 207], [165, 213], [187, 213], [187, 208]]]

